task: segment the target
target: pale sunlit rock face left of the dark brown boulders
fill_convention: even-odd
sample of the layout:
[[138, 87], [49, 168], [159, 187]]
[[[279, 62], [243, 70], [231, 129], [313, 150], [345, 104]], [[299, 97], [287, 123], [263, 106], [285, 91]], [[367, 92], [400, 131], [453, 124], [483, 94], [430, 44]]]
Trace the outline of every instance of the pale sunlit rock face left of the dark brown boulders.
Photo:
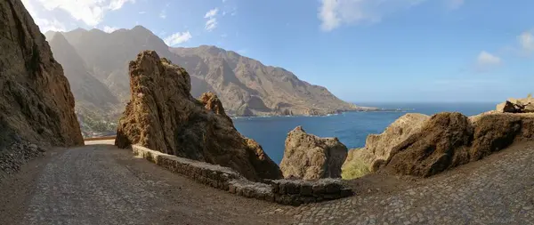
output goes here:
[[378, 164], [387, 160], [392, 149], [402, 141], [408, 139], [409, 135], [417, 133], [429, 117], [419, 113], [408, 113], [389, 125], [384, 133], [369, 134], [366, 139], [365, 148], [351, 149], [343, 167], [347, 168], [353, 164], [364, 164], [370, 171], [375, 171]]

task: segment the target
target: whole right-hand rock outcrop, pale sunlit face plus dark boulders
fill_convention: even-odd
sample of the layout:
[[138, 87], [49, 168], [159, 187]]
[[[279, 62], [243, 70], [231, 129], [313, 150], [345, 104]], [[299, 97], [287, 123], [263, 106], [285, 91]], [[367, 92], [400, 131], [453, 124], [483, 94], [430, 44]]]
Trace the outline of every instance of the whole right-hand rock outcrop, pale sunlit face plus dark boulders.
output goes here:
[[407, 114], [384, 133], [369, 135], [365, 148], [349, 152], [344, 174], [365, 165], [372, 172], [428, 177], [488, 157], [514, 142], [532, 140], [531, 113]]

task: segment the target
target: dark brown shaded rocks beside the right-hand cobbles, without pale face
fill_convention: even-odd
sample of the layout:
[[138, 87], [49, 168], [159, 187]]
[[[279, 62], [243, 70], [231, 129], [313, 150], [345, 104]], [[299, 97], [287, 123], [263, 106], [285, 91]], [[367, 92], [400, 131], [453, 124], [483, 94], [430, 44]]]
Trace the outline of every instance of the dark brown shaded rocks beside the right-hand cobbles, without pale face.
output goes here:
[[392, 149], [384, 171], [427, 177], [487, 157], [514, 141], [532, 141], [533, 135], [532, 115], [483, 114], [470, 119], [440, 113]]

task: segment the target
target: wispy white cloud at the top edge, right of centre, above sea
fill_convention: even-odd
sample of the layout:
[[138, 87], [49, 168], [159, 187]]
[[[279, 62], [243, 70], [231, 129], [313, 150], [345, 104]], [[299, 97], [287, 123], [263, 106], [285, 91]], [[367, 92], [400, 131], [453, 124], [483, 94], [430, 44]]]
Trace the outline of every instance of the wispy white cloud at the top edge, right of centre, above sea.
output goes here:
[[377, 22], [388, 14], [425, 0], [320, 0], [320, 28], [330, 31], [343, 24]]

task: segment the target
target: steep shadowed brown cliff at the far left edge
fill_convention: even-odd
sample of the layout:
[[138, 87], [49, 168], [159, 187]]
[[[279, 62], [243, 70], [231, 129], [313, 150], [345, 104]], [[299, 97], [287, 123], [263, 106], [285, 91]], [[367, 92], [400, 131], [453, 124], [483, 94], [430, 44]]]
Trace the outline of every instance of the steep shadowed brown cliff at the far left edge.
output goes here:
[[84, 141], [63, 68], [20, 0], [0, 2], [0, 149]]

